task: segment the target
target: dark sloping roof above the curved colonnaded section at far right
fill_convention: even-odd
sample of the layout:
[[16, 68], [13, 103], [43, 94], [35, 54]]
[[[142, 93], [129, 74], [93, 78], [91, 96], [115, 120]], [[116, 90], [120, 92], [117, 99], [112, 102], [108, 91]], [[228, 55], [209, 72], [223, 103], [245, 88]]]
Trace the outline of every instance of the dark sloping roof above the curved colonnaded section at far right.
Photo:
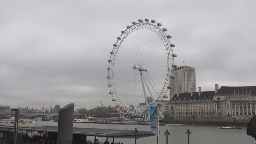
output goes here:
[[256, 86], [221, 86], [216, 95], [255, 95]]

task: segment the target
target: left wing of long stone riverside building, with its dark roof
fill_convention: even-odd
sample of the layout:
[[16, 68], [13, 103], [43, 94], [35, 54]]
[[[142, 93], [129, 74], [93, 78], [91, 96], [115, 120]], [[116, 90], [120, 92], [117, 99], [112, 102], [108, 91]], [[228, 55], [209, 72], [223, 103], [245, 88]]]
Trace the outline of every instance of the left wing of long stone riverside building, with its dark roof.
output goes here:
[[174, 119], [202, 119], [213, 114], [212, 99], [215, 91], [184, 92], [175, 94], [169, 102], [169, 117]]

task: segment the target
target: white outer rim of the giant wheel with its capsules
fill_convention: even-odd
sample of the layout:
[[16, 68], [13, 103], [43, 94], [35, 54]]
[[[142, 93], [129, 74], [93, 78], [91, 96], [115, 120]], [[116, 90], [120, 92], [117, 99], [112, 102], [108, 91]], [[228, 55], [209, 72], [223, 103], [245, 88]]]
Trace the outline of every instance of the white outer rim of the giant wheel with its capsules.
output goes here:
[[[109, 86], [109, 89], [110, 89], [109, 94], [112, 95], [113, 101], [116, 102], [117, 109], [119, 107], [122, 107], [122, 109], [126, 113], [143, 113], [149, 107], [154, 106], [156, 103], [160, 103], [163, 100], [163, 96], [166, 96], [166, 93], [168, 91], [167, 86], [170, 85], [170, 82], [172, 80], [172, 78], [170, 78], [170, 75], [172, 73], [171, 68], [174, 65], [174, 58], [172, 56], [172, 54], [173, 54], [172, 47], [173, 46], [170, 46], [171, 43], [170, 43], [169, 38], [168, 38], [169, 35], [167, 36], [166, 33], [163, 31], [163, 29], [165, 29], [165, 28], [161, 29], [160, 26], [158, 26], [158, 23], [157, 23], [157, 25], [155, 25], [154, 23], [155, 22], [154, 21], [152, 22], [152, 20], [151, 20], [151, 22], [147, 22], [147, 21], [138, 22], [138, 23], [137, 22], [133, 22], [132, 26], [126, 26], [127, 29], [122, 31], [122, 34], [119, 37], [117, 37], [117, 41], [113, 45], [114, 47], [113, 47], [112, 51], [110, 52], [111, 56], [110, 56], [110, 59], [108, 60], [109, 64], [108, 64], [108, 77], [107, 77], [108, 78], [108, 86]], [[118, 96], [117, 91], [115, 89], [115, 85], [114, 85], [113, 71], [114, 71], [115, 57], [116, 57], [116, 54], [118, 52], [118, 49], [119, 49], [120, 45], [122, 44], [123, 40], [128, 35], [130, 35], [132, 32], [134, 32], [134, 31], [136, 31], [138, 29], [150, 29], [150, 30], [154, 31], [161, 38], [161, 40], [163, 41], [165, 50], [166, 50], [166, 56], [167, 56], [167, 65], [166, 66], [167, 66], [167, 70], [166, 70], [165, 81], [164, 81], [163, 86], [162, 86], [162, 88], [160, 90], [160, 95], [158, 95], [157, 98], [155, 98], [152, 102], [146, 104], [144, 107], [132, 108], [132, 107], [128, 106], [127, 104], [125, 104], [120, 99], [120, 97]]]

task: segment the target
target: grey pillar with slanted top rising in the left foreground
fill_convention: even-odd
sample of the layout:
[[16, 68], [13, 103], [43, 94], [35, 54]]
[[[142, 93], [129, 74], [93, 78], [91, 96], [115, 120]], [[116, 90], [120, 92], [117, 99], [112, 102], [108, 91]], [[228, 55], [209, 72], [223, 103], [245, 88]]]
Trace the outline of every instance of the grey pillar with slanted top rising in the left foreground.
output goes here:
[[72, 144], [74, 103], [68, 104], [59, 111], [58, 144]]

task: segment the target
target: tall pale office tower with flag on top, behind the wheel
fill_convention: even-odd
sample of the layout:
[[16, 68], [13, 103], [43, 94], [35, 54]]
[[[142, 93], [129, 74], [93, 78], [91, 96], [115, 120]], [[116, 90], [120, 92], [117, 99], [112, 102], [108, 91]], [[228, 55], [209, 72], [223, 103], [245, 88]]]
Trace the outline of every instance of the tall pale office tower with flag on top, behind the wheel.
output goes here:
[[194, 67], [181, 66], [173, 69], [175, 79], [172, 79], [170, 99], [173, 95], [184, 92], [196, 92], [196, 72]]

